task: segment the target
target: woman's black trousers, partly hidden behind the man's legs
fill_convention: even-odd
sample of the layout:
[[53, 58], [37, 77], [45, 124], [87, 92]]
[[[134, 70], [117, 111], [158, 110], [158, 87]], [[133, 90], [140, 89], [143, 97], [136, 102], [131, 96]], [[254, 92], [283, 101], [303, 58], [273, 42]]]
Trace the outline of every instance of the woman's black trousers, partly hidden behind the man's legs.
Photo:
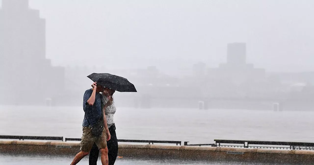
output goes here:
[[[115, 124], [111, 125], [109, 128], [111, 139], [107, 141], [108, 147], [108, 164], [113, 165], [116, 162], [118, 156], [118, 139], [116, 136], [116, 126]], [[94, 143], [94, 146], [89, 152], [89, 165], [97, 165], [97, 160], [99, 156], [99, 149]]]

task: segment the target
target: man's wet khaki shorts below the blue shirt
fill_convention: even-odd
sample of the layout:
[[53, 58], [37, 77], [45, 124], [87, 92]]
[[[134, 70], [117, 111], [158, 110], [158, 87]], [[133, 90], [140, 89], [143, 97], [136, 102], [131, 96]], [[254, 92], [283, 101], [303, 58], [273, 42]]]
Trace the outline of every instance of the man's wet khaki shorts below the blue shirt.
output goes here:
[[98, 149], [100, 148], [106, 148], [107, 147], [107, 134], [106, 134], [106, 129], [102, 131], [101, 136], [95, 137], [89, 127], [84, 127], [83, 126], [83, 135], [82, 135], [82, 140], [80, 143], [80, 150], [89, 152], [93, 145], [94, 142], [96, 143]]

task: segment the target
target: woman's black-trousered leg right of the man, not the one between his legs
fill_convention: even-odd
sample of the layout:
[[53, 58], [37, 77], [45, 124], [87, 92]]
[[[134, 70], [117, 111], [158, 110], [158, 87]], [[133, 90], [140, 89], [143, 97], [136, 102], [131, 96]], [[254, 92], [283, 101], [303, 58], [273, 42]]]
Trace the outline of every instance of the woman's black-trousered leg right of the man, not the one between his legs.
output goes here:
[[118, 139], [116, 136], [116, 127], [112, 125], [109, 128], [109, 132], [111, 135], [111, 139], [107, 141], [108, 146], [108, 162], [109, 165], [113, 165], [116, 162], [116, 158], [118, 156]]

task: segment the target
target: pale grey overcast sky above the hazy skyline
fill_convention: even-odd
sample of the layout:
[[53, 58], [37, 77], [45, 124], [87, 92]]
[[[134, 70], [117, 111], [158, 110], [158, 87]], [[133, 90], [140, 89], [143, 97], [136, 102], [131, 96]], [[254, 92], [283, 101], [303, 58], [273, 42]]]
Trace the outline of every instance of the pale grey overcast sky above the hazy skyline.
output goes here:
[[53, 65], [216, 67], [227, 43], [246, 42], [257, 67], [314, 71], [313, 0], [30, 0], [30, 7], [46, 19]]

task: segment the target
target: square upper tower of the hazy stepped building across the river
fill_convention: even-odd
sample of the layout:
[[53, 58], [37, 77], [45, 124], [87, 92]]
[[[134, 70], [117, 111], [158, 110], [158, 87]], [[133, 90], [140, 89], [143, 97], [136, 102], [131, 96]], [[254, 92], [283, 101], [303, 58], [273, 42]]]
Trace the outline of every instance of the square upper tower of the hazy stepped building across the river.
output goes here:
[[229, 43], [227, 45], [227, 63], [233, 66], [246, 64], [246, 43]]

